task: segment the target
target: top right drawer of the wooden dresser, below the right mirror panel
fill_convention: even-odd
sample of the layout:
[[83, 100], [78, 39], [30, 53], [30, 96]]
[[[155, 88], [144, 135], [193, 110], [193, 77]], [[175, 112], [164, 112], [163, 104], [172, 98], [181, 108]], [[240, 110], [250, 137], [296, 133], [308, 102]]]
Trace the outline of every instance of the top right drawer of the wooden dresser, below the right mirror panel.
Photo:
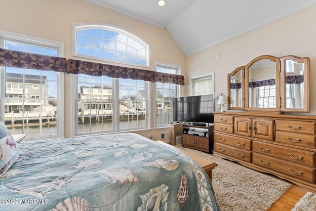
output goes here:
[[315, 122], [301, 122], [290, 120], [276, 120], [276, 130], [315, 134]]

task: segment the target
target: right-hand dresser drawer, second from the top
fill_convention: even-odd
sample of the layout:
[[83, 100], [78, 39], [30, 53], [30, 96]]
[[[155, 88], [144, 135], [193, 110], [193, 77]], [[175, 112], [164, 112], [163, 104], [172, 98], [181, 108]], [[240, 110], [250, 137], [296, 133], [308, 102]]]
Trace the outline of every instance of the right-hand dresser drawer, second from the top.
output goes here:
[[315, 135], [276, 131], [276, 142], [315, 149]]

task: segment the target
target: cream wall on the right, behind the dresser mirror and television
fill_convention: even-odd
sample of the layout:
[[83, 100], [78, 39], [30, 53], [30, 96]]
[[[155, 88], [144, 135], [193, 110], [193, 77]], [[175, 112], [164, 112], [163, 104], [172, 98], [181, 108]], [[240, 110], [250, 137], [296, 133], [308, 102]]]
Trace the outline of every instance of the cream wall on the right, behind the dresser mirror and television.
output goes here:
[[[219, 53], [219, 58], [215, 55]], [[311, 113], [316, 115], [316, 6], [187, 57], [187, 77], [215, 72], [215, 93], [227, 95], [227, 74], [260, 55], [310, 57]], [[186, 86], [190, 93], [189, 86]]]

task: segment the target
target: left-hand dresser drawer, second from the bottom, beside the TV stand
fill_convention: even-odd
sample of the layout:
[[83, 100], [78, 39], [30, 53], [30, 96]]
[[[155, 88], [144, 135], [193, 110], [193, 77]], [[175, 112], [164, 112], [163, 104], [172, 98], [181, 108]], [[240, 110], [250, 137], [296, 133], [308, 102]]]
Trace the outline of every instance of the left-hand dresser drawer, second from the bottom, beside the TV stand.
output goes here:
[[234, 137], [230, 135], [224, 135], [220, 133], [214, 133], [214, 141], [227, 144], [230, 146], [238, 147], [245, 150], [251, 150], [251, 140], [245, 138]]

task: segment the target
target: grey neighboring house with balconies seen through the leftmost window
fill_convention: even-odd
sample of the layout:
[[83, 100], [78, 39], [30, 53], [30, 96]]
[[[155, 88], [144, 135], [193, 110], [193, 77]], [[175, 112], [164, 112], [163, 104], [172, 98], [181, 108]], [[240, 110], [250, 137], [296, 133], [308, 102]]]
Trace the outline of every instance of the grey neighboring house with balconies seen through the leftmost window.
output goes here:
[[[41, 87], [42, 87], [42, 98], [48, 98], [48, 83], [46, 82], [46, 76], [37, 75], [24, 75], [24, 87], [23, 87], [23, 78], [21, 74], [16, 73], [6, 73], [5, 74], [6, 83], [5, 83], [5, 97], [6, 98], [15, 98], [15, 99], [6, 99], [5, 113], [20, 113], [23, 110], [26, 112], [40, 112], [40, 100], [31, 100], [26, 99], [24, 102], [16, 98], [40, 98], [41, 96]], [[41, 84], [42, 81], [42, 84]], [[48, 100], [42, 101], [42, 110], [46, 111], [46, 108], [49, 106]]]

